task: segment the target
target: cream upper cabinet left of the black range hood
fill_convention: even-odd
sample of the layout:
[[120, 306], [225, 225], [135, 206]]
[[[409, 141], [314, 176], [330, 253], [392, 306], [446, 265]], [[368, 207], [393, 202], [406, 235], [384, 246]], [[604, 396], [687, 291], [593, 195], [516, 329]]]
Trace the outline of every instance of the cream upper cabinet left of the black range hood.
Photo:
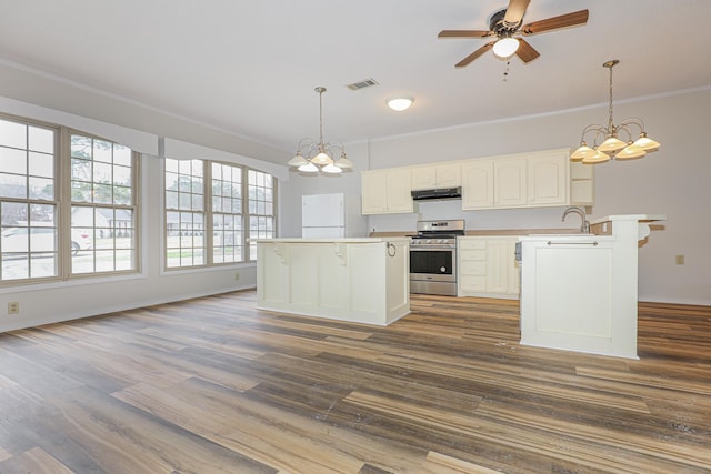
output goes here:
[[362, 213], [413, 212], [410, 191], [409, 168], [363, 171], [361, 173]]

